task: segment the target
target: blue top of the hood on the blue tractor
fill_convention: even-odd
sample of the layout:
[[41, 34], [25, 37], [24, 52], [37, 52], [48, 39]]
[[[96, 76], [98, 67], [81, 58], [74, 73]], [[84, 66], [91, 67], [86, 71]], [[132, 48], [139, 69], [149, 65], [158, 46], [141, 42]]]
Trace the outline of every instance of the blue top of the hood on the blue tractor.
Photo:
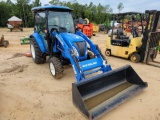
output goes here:
[[66, 41], [66, 42], [82, 42], [84, 41], [84, 39], [81, 36], [78, 36], [76, 34], [72, 34], [72, 33], [60, 33], [62, 38]]

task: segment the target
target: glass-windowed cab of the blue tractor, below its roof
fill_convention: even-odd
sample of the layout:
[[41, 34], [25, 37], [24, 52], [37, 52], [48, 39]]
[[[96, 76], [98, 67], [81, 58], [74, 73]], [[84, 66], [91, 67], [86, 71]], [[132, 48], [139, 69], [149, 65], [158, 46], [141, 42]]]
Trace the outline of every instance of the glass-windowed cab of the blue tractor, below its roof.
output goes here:
[[[34, 8], [38, 9], [38, 7]], [[34, 9], [32, 9], [34, 11]], [[65, 7], [63, 10], [39, 9], [35, 12], [35, 30], [49, 34], [54, 28], [58, 32], [75, 33], [72, 10]]]

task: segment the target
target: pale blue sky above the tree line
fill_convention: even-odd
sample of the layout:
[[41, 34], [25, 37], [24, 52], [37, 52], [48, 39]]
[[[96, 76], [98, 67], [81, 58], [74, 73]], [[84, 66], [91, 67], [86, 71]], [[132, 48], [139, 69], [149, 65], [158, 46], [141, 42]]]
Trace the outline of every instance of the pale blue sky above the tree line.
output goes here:
[[[0, 0], [6, 1], [6, 0]], [[15, 2], [16, 0], [11, 0]], [[33, 0], [31, 0], [33, 1]], [[48, 4], [51, 0], [40, 0], [42, 5]], [[61, 1], [74, 1], [74, 0], [61, 0]], [[121, 2], [124, 9], [121, 12], [145, 12], [145, 10], [160, 10], [160, 0], [77, 0], [80, 4], [89, 4], [93, 2], [94, 5], [110, 5], [113, 9], [113, 13], [117, 13], [117, 6]]]

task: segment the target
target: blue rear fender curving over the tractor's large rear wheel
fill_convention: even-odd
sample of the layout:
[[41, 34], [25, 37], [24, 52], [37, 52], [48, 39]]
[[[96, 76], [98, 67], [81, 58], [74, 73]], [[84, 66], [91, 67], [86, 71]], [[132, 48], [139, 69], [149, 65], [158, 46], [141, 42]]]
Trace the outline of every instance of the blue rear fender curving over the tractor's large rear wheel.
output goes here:
[[38, 32], [35, 32], [32, 35], [30, 35], [30, 38], [35, 38], [41, 51], [43, 53], [46, 52], [46, 47], [45, 47], [45, 43], [43, 42], [43, 37], [39, 35]]

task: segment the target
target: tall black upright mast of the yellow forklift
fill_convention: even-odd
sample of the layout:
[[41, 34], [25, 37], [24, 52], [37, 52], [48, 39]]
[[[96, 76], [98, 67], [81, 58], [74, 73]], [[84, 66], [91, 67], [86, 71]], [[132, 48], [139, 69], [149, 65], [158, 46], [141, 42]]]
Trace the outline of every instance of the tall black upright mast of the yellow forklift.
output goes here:
[[147, 25], [143, 32], [142, 46], [140, 48], [141, 62], [148, 64], [153, 62], [157, 55], [160, 40], [160, 32], [157, 31], [160, 20], [160, 11], [145, 11]]

